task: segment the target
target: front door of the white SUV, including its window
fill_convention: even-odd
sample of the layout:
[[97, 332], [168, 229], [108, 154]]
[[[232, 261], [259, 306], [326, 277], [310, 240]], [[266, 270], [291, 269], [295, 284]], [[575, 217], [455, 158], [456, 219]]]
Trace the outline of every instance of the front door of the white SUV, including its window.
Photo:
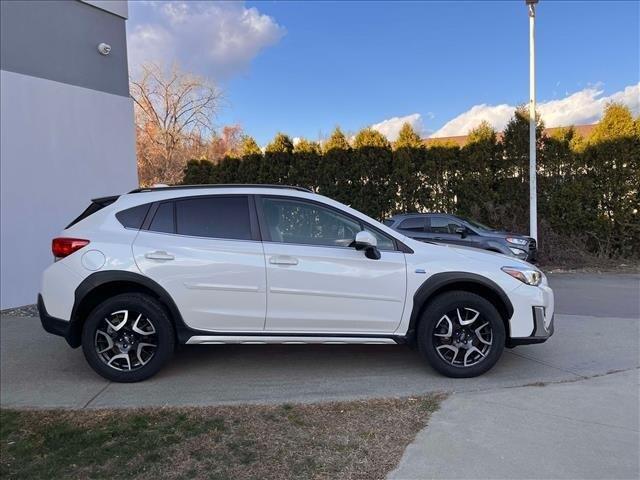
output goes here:
[[379, 260], [351, 247], [367, 226], [317, 202], [258, 197], [267, 268], [269, 332], [389, 334], [402, 318], [404, 253], [377, 238]]

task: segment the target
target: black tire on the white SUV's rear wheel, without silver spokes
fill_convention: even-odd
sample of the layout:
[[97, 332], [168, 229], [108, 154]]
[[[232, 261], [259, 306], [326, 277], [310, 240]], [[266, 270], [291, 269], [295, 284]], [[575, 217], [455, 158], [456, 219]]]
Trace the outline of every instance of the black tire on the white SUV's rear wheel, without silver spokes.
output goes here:
[[[104, 328], [105, 319], [111, 318], [110, 316], [114, 312], [123, 310], [142, 314], [144, 316], [144, 321], [148, 320], [149, 322], [148, 324], [145, 324], [147, 325], [148, 331], [151, 332], [153, 330], [153, 333], [150, 334], [152, 336], [150, 337], [141, 337], [131, 331], [130, 334], [132, 337], [138, 337], [138, 343], [143, 341], [151, 343], [153, 341], [156, 345], [155, 349], [153, 349], [154, 353], [152, 354], [149, 353], [149, 350], [144, 350], [144, 355], [150, 356], [147, 363], [141, 363], [142, 360], [140, 360], [140, 365], [131, 369], [132, 360], [130, 357], [129, 360], [126, 361], [129, 366], [129, 370], [119, 370], [117, 367], [112, 367], [107, 364], [105, 356], [110, 355], [112, 351], [114, 355], [122, 353], [118, 350], [115, 338], [107, 340], [109, 344], [114, 342], [112, 350], [108, 350], [107, 353], [100, 354], [98, 352], [97, 343], [98, 337], [101, 337], [101, 341], [106, 340], [106, 338], [104, 338], [106, 335], [103, 335], [103, 332], [106, 331]], [[131, 322], [128, 322], [128, 324], [129, 323]], [[122, 332], [127, 330], [128, 324], [121, 327], [121, 331], [112, 331], [113, 335], [118, 336], [119, 333], [122, 334]], [[152, 327], [148, 327], [148, 325], [152, 325]], [[98, 329], [100, 329], [101, 332], [98, 332]], [[136, 344], [133, 343], [132, 345]], [[129, 348], [133, 348], [133, 346]], [[150, 349], [151, 347], [146, 348]], [[124, 293], [103, 301], [89, 314], [82, 328], [82, 350], [87, 362], [98, 374], [113, 382], [140, 382], [152, 377], [171, 358], [174, 348], [175, 335], [173, 325], [171, 324], [171, 320], [169, 319], [166, 310], [157, 300], [141, 293]], [[135, 355], [133, 352], [132, 354]], [[127, 356], [128, 355], [129, 353], [127, 353]], [[137, 358], [140, 358], [140, 353], [138, 353]], [[135, 362], [136, 357], [134, 356], [133, 359]]]

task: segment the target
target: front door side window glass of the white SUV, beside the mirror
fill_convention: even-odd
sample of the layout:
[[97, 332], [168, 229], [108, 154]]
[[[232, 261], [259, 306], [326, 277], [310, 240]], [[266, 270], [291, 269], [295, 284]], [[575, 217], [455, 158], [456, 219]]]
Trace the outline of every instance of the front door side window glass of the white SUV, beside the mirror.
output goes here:
[[[262, 207], [271, 241], [348, 247], [363, 224], [347, 215], [316, 203], [282, 198], [263, 198]], [[393, 250], [386, 235], [371, 231], [381, 250]]]

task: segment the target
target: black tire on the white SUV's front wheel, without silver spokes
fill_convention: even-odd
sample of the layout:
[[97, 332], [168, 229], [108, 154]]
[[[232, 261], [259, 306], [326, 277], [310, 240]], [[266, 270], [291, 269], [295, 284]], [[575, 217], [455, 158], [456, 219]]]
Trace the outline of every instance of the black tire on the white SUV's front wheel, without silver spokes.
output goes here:
[[[466, 353], [468, 350], [460, 350], [459, 352], [456, 351], [455, 353], [452, 353], [451, 356], [453, 360], [445, 359], [442, 357], [443, 354], [439, 353], [436, 348], [441, 347], [440, 351], [444, 352], [444, 356], [449, 356], [447, 355], [447, 352], [453, 352], [453, 349], [448, 350], [448, 348], [442, 345], [442, 343], [438, 344], [440, 340], [438, 337], [434, 336], [434, 334], [436, 332], [442, 332], [443, 330], [447, 330], [445, 334], [448, 333], [448, 329], [446, 328], [446, 319], [444, 321], [444, 328], [442, 324], [439, 325], [439, 322], [442, 321], [445, 315], [450, 316], [450, 312], [457, 312], [457, 309], [467, 308], [472, 309], [470, 311], [479, 312], [479, 316], [475, 322], [481, 321], [481, 324], [486, 322], [489, 323], [489, 326], [485, 327], [485, 329], [491, 329], [491, 345], [489, 347], [485, 347], [484, 344], [481, 344], [478, 340], [479, 337], [477, 333], [475, 334], [475, 337], [467, 337], [468, 340], [476, 342], [480, 348], [488, 348], [485, 352], [486, 355], [481, 356], [480, 354], [476, 354], [474, 351], [472, 354], [478, 359], [477, 363], [472, 365], [470, 364], [468, 366], [454, 365], [451, 362], [455, 362], [456, 359], [458, 359], [458, 361], [464, 360], [463, 363], [466, 363], [466, 357], [461, 352], [464, 351]], [[475, 322], [471, 325], [474, 326], [474, 328], [477, 328], [475, 327], [475, 325], [477, 325]], [[452, 323], [454, 323], [453, 327], [455, 332], [455, 321]], [[438, 328], [437, 331], [436, 327]], [[464, 328], [459, 327], [458, 331], [461, 330], [464, 330]], [[466, 329], [466, 334], [469, 333], [469, 330], [471, 330], [471, 327]], [[487, 332], [488, 330], [484, 331]], [[462, 333], [462, 335], [464, 334], [465, 333]], [[452, 337], [455, 338], [455, 335], [456, 334], [452, 333]], [[473, 338], [473, 340], [471, 340], [471, 338]], [[483, 339], [487, 340], [485, 338]], [[417, 344], [418, 350], [422, 356], [441, 374], [453, 378], [469, 378], [482, 375], [496, 364], [504, 350], [505, 339], [506, 333], [504, 322], [500, 313], [498, 313], [498, 310], [491, 302], [479, 295], [476, 295], [475, 293], [451, 291], [438, 295], [429, 303], [429, 305], [427, 305], [426, 309], [422, 313], [420, 324], [418, 325]], [[453, 343], [450, 339], [444, 339], [442, 342]]]

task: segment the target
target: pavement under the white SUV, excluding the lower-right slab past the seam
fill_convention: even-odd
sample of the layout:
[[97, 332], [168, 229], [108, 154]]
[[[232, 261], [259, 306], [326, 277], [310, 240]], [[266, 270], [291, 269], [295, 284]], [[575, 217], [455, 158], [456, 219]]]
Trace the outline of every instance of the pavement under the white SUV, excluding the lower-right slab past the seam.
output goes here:
[[[45, 333], [38, 319], [4, 317], [0, 404], [100, 408], [318, 402], [492, 390], [638, 367], [639, 275], [558, 275], [551, 282], [559, 312], [555, 335], [541, 345], [505, 350], [494, 369], [473, 379], [440, 376], [406, 346], [222, 345], [183, 347], [152, 379], [117, 384], [95, 374], [80, 349]], [[572, 309], [581, 313], [570, 314]]]

